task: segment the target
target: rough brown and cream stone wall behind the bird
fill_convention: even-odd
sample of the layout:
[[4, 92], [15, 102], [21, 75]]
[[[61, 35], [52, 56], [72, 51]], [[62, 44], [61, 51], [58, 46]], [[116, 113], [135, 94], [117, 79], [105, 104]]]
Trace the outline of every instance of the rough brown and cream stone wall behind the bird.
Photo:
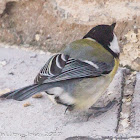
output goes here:
[[97, 24], [117, 22], [121, 64], [140, 69], [139, 0], [1, 0], [0, 14], [0, 41], [55, 52]]

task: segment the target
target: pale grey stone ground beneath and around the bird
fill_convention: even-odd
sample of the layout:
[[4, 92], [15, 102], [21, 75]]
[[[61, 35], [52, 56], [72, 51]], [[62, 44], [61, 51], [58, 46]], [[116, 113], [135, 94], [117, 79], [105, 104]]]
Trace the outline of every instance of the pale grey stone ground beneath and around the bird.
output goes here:
[[[32, 84], [50, 56], [50, 53], [0, 45], [0, 93]], [[86, 121], [85, 112], [64, 114], [66, 108], [53, 104], [45, 93], [42, 93], [42, 98], [22, 102], [0, 100], [0, 140], [140, 138], [140, 73], [136, 75], [136, 85], [132, 80], [135, 74], [122, 68], [118, 70], [97, 105], [103, 106], [114, 98], [118, 104], [89, 121]], [[130, 98], [124, 93], [129, 89], [125, 86], [134, 88]], [[30, 106], [24, 107], [25, 103], [30, 103]]]

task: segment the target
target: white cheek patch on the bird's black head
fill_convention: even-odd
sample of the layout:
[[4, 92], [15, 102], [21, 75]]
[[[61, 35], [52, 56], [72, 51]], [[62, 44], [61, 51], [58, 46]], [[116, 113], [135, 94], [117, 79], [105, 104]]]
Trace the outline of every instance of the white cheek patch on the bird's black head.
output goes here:
[[110, 43], [109, 48], [110, 48], [114, 53], [120, 53], [120, 47], [119, 47], [118, 40], [117, 40], [117, 37], [116, 37], [115, 34], [114, 34], [114, 37], [113, 37], [112, 42]]

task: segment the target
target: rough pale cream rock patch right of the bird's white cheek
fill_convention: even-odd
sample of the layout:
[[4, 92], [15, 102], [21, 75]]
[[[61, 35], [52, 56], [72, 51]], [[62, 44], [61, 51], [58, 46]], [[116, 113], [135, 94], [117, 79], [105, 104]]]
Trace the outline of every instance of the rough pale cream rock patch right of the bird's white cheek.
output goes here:
[[126, 35], [120, 55], [121, 64], [140, 70], [140, 29], [129, 31]]

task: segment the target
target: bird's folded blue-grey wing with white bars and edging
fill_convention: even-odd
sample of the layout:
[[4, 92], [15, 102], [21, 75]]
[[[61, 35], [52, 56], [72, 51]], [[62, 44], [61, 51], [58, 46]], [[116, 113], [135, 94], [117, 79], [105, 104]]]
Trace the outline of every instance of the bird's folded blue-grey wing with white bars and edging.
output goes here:
[[112, 68], [104, 62], [78, 60], [71, 58], [69, 55], [56, 54], [41, 69], [35, 78], [35, 83], [42, 84], [68, 79], [98, 77], [109, 73]]

